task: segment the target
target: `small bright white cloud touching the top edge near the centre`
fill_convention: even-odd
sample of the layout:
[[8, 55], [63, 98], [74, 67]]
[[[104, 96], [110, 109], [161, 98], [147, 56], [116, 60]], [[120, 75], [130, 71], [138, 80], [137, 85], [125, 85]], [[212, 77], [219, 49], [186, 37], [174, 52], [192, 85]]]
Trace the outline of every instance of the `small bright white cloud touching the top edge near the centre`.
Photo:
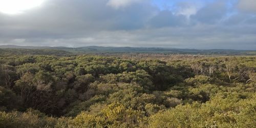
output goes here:
[[121, 7], [130, 6], [134, 3], [140, 3], [142, 1], [143, 0], [110, 0], [107, 5], [115, 9], [118, 9]]

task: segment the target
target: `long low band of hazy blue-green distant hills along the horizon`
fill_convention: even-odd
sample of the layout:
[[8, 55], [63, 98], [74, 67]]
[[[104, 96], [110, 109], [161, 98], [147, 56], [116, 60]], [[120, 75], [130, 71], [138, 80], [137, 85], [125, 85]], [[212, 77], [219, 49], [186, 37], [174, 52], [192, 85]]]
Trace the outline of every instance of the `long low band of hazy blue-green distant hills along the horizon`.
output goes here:
[[176, 49], [176, 48], [160, 48], [160, 47], [34, 47], [34, 46], [0, 46], [0, 49], [51, 49], [63, 50], [71, 53], [183, 53], [183, 54], [230, 54], [230, 55], [256, 55], [256, 50], [197, 50], [197, 49]]

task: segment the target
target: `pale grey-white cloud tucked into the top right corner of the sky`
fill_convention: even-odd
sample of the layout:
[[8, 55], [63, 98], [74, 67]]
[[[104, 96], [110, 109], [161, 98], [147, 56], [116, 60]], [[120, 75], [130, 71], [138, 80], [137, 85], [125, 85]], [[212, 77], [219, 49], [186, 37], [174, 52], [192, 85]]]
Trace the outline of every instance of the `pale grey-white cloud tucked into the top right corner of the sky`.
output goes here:
[[256, 1], [255, 0], [240, 0], [238, 7], [243, 11], [256, 12]]

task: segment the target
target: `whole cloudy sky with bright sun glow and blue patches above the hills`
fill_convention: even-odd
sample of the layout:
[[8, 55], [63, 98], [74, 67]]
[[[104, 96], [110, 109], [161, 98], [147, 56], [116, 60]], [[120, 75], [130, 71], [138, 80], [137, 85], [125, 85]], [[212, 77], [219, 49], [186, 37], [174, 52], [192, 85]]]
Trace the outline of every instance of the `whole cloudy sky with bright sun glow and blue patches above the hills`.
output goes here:
[[256, 1], [0, 0], [0, 45], [256, 50]]

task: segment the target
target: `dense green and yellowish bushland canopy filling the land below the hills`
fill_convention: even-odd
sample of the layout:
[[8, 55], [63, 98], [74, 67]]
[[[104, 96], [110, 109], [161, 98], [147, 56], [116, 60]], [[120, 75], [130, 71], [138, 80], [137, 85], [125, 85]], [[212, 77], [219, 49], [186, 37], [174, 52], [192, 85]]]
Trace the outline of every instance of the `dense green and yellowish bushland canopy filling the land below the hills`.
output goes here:
[[255, 56], [16, 51], [0, 56], [0, 127], [256, 126]]

